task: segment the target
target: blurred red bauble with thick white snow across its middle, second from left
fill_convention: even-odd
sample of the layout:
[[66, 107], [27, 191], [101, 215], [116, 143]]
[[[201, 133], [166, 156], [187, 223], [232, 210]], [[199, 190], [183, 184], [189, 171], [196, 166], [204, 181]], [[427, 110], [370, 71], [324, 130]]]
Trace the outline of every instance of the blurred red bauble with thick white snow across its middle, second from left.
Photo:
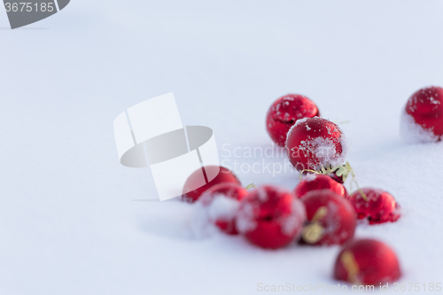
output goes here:
[[237, 183], [222, 182], [206, 190], [198, 202], [209, 211], [210, 221], [229, 235], [237, 235], [235, 218], [239, 201], [245, 198], [248, 191]]

